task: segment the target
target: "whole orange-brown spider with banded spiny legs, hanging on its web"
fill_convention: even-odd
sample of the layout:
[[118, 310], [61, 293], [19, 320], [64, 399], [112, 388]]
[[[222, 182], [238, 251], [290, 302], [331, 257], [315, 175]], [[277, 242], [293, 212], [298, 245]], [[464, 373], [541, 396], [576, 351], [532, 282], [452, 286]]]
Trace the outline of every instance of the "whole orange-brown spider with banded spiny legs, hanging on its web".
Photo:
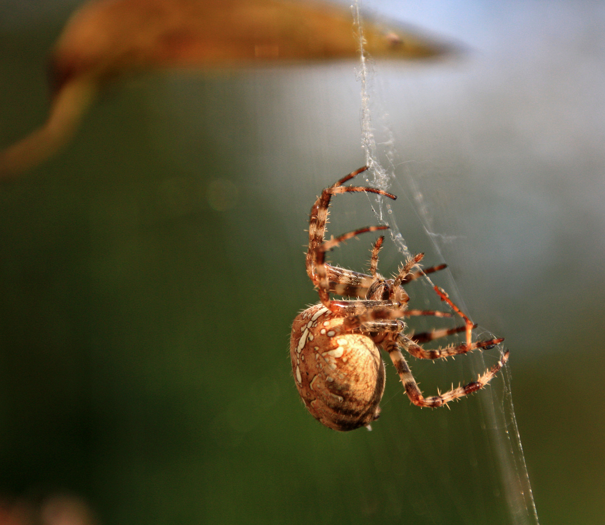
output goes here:
[[[442, 407], [485, 387], [502, 369], [509, 355], [506, 350], [500, 361], [480, 375], [477, 381], [436, 396], [425, 398], [422, 395], [402, 349], [416, 358], [439, 359], [476, 349], [491, 349], [502, 343], [503, 338], [472, 341], [472, 330], [477, 325], [437, 286], [434, 287], [437, 295], [450, 306], [454, 314], [462, 317], [465, 324], [451, 329], [433, 329], [430, 332], [406, 335], [406, 325], [402, 318], [414, 315], [453, 317], [454, 314], [449, 312], [409, 309], [410, 297], [404, 289], [413, 280], [439, 271], [446, 265], [422, 271], [419, 263], [424, 254], [420, 253], [408, 259], [393, 279], [385, 279], [378, 273], [378, 254], [384, 236], [379, 237], [371, 248], [371, 275], [325, 262], [325, 253], [341, 242], [361, 233], [388, 229], [388, 226], [370, 226], [329, 240], [324, 239], [333, 195], [365, 192], [396, 199], [396, 196], [379, 188], [343, 185], [365, 170], [367, 166], [325, 188], [311, 208], [306, 266], [307, 274], [318, 290], [320, 302], [295, 318], [290, 337], [292, 371], [302, 401], [315, 419], [326, 427], [340, 431], [364, 426], [371, 428], [371, 422], [379, 417], [385, 385], [385, 367], [379, 347], [388, 353], [405, 393], [419, 407]], [[330, 298], [331, 293], [355, 299], [334, 300]], [[424, 349], [420, 344], [458, 332], [466, 332], [465, 343], [431, 350]]]

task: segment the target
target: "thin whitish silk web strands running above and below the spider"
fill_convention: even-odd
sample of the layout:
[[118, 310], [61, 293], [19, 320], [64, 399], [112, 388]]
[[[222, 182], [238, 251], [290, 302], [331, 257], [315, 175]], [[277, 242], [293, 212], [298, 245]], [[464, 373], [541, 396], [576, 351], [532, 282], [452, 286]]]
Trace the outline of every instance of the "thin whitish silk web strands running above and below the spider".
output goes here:
[[[456, 237], [439, 233], [435, 229], [430, 203], [425, 198], [422, 185], [414, 174], [414, 170], [405, 169], [403, 176], [396, 176], [398, 158], [395, 149], [396, 141], [391, 131], [391, 126], [388, 123], [388, 115], [384, 110], [381, 111], [382, 108], [379, 108], [378, 112], [376, 111], [376, 107], [379, 106], [379, 102], [375, 100], [376, 88], [374, 87], [374, 81], [376, 80], [376, 72], [374, 64], [368, 59], [364, 51], [364, 27], [360, 14], [360, 4], [361, 0], [355, 0], [352, 10], [355, 26], [358, 28], [361, 50], [361, 59], [357, 74], [359, 83], [361, 84], [361, 140], [365, 152], [365, 163], [369, 167], [366, 172], [366, 181], [370, 185], [388, 191], [391, 191], [391, 186], [394, 182], [401, 185], [408, 204], [411, 205], [411, 208], [416, 213], [417, 219], [424, 228], [428, 239], [430, 239], [435, 253], [440, 260], [445, 260], [442, 248], [445, 244], [455, 242]], [[377, 113], [378, 117], [376, 117]], [[391, 239], [397, 246], [397, 250], [404, 254], [405, 257], [410, 257], [411, 252], [397, 226], [396, 214], [394, 213], [391, 201], [382, 198], [382, 196], [366, 195], [373, 202], [372, 208], [378, 221], [390, 227]], [[453, 297], [454, 302], [459, 304], [463, 311], [466, 311], [449, 270], [445, 272], [448, 274], [448, 294]], [[434, 285], [430, 276], [425, 275], [423, 281], [425, 295], [434, 294], [432, 290]], [[425, 299], [425, 303], [429, 304], [430, 301]], [[473, 337], [485, 340], [492, 337], [492, 334], [485, 332], [485, 330], [477, 329], [474, 330]], [[502, 356], [503, 349], [499, 347], [498, 350]], [[486, 369], [482, 353], [477, 352], [474, 359], [476, 359], [478, 366], [484, 370]], [[510, 366], [506, 366], [500, 373], [500, 376], [497, 380], [494, 379], [492, 381], [490, 388], [485, 388], [479, 394], [479, 417], [480, 426], [483, 430], [482, 439], [486, 441], [489, 454], [491, 454], [492, 460], [497, 466], [497, 478], [499, 479], [499, 489], [494, 491], [492, 497], [494, 500], [503, 502], [503, 507], [506, 508], [507, 513], [506, 517], [500, 517], [503, 521], [492, 521], [491, 523], [538, 525], [538, 515], [529, 483], [529, 475], [515, 418], [514, 405], [512, 403]], [[477, 465], [469, 465], [469, 469], [477, 471], [477, 474], [482, 475]], [[415, 474], [418, 475], [419, 473], [416, 472]], [[435, 480], [431, 480], [431, 482], [435, 482]], [[451, 488], [445, 486], [445, 482], [443, 482], [443, 485], [443, 487], [437, 486], [435, 492], [444, 489], [452, 492]], [[455, 492], [452, 492], [452, 494], [453, 497], [456, 497]], [[493, 506], [490, 499], [486, 495], [483, 495], [481, 498], [481, 506], [484, 507], [481, 510], [486, 515], [489, 515], [491, 512], [490, 507]], [[431, 504], [431, 501], [427, 497], [425, 506], [430, 507]], [[460, 509], [459, 514], [463, 518], [463, 523], [475, 523], [475, 517], [468, 514], [468, 512], [465, 515], [463, 509]], [[433, 521], [434, 523], [440, 523], [439, 519], [435, 517], [433, 517]]]

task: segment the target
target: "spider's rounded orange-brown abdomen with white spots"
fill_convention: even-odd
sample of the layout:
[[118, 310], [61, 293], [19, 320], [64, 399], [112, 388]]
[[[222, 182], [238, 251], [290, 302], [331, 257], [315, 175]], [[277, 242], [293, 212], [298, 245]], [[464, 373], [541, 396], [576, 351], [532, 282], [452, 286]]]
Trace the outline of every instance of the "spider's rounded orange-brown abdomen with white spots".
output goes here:
[[378, 419], [385, 369], [374, 341], [342, 326], [323, 304], [292, 324], [290, 358], [296, 388], [315, 419], [334, 430], [355, 430]]

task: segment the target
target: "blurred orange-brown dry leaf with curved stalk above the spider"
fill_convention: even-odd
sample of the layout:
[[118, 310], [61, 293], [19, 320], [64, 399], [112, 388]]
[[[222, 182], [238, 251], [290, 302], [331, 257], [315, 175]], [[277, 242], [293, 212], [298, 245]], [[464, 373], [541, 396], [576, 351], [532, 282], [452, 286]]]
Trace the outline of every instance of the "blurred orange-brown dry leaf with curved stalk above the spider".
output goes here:
[[[446, 51], [423, 37], [364, 20], [374, 57], [419, 59]], [[191, 66], [353, 59], [350, 8], [315, 1], [97, 0], [72, 16], [53, 51], [47, 122], [0, 153], [0, 178], [44, 161], [71, 138], [103, 85], [128, 72]]]

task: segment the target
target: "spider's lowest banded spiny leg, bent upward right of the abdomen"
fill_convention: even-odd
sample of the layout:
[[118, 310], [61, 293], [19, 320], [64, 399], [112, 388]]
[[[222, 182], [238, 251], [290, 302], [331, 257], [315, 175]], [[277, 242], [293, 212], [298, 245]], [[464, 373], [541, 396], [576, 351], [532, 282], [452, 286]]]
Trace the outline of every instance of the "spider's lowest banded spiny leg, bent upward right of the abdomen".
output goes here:
[[486, 384], [491, 381], [491, 379], [500, 372], [500, 369], [506, 364], [508, 361], [508, 350], [502, 355], [500, 361], [497, 362], [491, 369], [486, 370], [482, 375], [477, 378], [477, 381], [469, 382], [463, 387], [453, 388], [443, 394], [439, 394], [436, 396], [431, 396], [430, 398], [425, 398], [418, 388], [416, 383], [416, 379], [411, 373], [410, 367], [405, 361], [404, 355], [399, 350], [399, 346], [394, 341], [388, 341], [384, 344], [385, 350], [387, 350], [388, 355], [393, 361], [393, 365], [401, 378], [401, 382], [404, 385], [405, 393], [407, 394], [410, 401], [413, 402], [414, 405], [418, 407], [442, 407], [443, 405], [449, 403], [450, 401], [454, 401], [454, 399], [462, 398], [463, 396], [468, 396], [469, 394], [480, 390], [485, 387]]

